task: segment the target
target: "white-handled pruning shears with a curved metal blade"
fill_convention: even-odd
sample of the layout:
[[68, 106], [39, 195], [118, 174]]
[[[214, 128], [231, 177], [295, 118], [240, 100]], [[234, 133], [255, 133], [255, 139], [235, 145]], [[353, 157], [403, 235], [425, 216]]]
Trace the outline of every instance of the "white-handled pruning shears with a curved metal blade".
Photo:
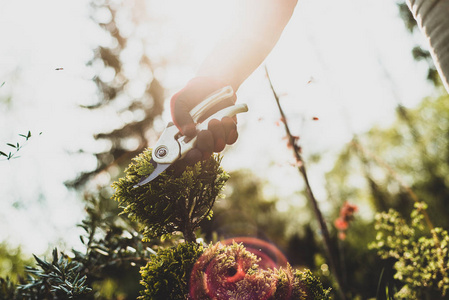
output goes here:
[[[248, 111], [248, 106], [244, 103], [228, 106], [199, 123], [201, 117], [203, 117], [211, 107], [226, 98], [232, 97], [233, 94], [234, 91], [232, 90], [232, 87], [224, 87], [204, 99], [189, 112], [196, 124], [197, 132], [207, 129], [209, 121], [213, 119], [221, 120], [223, 117], [233, 117], [238, 113]], [[195, 147], [196, 140], [196, 136], [193, 138], [183, 136], [173, 122], [168, 123], [158, 142], [154, 146], [151, 155], [150, 163], [154, 166], [153, 172], [148, 177], [142, 178], [142, 180], [140, 180], [134, 187], [147, 184], [159, 176], [159, 174], [165, 171], [175, 161], [184, 158], [187, 152]]]

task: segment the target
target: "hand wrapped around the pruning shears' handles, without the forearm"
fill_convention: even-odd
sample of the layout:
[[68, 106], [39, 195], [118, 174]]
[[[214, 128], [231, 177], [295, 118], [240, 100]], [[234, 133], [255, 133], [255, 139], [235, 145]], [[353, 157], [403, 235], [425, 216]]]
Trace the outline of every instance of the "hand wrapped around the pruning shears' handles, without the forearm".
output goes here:
[[[197, 136], [196, 147], [189, 151], [181, 164], [192, 165], [200, 160], [210, 157], [212, 152], [221, 152], [226, 145], [235, 143], [238, 137], [236, 118], [224, 117], [221, 120], [213, 119], [207, 130], [197, 132], [190, 111], [209, 95], [223, 88], [225, 85], [208, 77], [197, 77], [171, 99], [171, 114], [173, 123], [181, 133], [187, 137]], [[213, 106], [198, 121], [202, 122], [215, 112], [234, 105], [236, 95], [229, 97]]]

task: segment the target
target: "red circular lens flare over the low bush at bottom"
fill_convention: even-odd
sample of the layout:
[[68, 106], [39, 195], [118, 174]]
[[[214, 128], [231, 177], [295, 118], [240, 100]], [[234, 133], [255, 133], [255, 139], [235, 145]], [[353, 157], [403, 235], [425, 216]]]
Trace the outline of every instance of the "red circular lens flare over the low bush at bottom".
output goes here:
[[249, 237], [228, 239], [209, 247], [195, 263], [190, 297], [266, 300], [276, 291], [278, 276], [274, 269], [286, 265], [281, 251], [265, 241]]

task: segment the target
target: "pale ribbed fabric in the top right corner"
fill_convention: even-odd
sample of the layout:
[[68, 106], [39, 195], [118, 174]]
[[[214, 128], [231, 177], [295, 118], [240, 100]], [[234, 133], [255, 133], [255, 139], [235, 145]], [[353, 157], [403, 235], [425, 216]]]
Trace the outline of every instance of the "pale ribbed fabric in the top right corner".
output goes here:
[[449, 0], [407, 0], [449, 93]]

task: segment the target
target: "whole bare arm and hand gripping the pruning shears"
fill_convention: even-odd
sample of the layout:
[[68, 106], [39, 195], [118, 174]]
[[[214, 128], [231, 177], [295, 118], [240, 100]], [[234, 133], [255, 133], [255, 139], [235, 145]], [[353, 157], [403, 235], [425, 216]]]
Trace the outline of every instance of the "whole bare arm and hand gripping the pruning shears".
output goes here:
[[[239, 14], [232, 28], [205, 59], [197, 77], [172, 97], [173, 122], [184, 135], [197, 135], [196, 147], [184, 159], [186, 164], [220, 152], [226, 144], [237, 140], [237, 126], [232, 118], [212, 120], [208, 130], [198, 133], [189, 112], [224, 85], [238, 90], [276, 45], [296, 3], [297, 0], [239, 0]], [[227, 98], [213, 110], [232, 106], [235, 99], [235, 95]]]

